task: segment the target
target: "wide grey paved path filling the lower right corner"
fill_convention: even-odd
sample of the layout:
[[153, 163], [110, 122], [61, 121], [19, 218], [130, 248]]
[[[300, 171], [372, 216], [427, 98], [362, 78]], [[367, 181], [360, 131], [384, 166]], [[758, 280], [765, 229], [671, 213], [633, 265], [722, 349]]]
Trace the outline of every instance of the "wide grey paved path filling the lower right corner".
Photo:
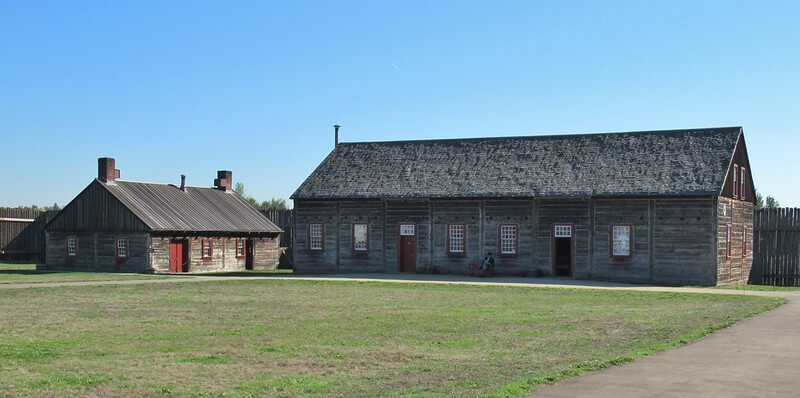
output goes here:
[[798, 397], [800, 293], [709, 337], [547, 386], [536, 397]]

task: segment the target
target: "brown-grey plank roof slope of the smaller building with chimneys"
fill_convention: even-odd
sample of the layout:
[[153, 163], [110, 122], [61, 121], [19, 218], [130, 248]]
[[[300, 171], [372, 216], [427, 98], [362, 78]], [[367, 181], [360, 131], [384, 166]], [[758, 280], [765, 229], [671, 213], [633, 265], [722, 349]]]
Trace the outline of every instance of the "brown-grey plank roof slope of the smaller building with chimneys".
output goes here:
[[283, 232], [232, 191], [116, 180], [101, 184], [153, 231]]

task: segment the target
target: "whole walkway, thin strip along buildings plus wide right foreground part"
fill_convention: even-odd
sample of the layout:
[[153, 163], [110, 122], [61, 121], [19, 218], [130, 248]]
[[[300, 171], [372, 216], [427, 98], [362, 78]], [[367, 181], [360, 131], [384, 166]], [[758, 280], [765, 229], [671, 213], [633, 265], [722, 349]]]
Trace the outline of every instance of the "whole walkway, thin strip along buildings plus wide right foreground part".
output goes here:
[[0, 289], [230, 280], [325, 280], [481, 284], [572, 289], [777, 296], [789, 304], [711, 336], [634, 362], [568, 379], [536, 397], [798, 397], [800, 396], [800, 291], [766, 292], [610, 283], [569, 278], [471, 278], [424, 274], [258, 276], [193, 275], [140, 280], [0, 284]]

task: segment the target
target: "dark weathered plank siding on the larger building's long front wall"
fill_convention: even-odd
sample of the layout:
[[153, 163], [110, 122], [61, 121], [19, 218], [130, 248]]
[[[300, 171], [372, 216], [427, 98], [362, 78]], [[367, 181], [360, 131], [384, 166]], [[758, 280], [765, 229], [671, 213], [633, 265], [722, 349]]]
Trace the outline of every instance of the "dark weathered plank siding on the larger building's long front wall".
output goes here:
[[[712, 198], [297, 201], [295, 270], [395, 272], [398, 225], [410, 222], [417, 226], [417, 272], [465, 273], [470, 262], [491, 251], [498, 274], [552, 275], [553, 226], [569, 224], [576, 278], [713, 285], [718, 249], [715, 203]], [[306, 250], [311, 222], [324, 224], [321, 252]], [[361, 258], [352, 253], [355, 222], [369, 225], [369, 254]], [[463, 256], [447, 253], [450, 224], [466, 227]], [[518, 226], [517, 256], [498, 254], [501, 224]], [[633, 228], [630, 258], [611, 257], [614, 224]]]

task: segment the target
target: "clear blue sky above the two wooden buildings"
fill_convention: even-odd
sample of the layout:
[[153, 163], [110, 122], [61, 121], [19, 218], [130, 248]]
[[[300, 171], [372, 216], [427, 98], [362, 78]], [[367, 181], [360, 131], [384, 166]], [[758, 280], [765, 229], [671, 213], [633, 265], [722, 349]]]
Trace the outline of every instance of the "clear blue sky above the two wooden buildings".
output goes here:
[[0, 2], [0, 205], [124, 179], [288, 198], [342, 141], [741, 125], [800, 206], [800, 2]]

